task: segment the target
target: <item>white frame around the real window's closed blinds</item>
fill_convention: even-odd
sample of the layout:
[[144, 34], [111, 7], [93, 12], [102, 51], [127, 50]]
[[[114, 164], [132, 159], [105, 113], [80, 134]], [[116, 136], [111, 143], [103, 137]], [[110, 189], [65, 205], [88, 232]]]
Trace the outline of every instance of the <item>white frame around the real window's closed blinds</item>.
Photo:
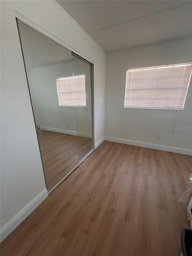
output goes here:
[[[143, 69], [154, 69], [154, 68], [160, 68], [160, 67], [171, 67], [171, 66], [178, 66], [178, 65], [192, 65], [192, 63], [184, 63], [184, 64], [173, 64], [173, 65], [164, 65], [164, 66], [155, 66], [155, 67], [146, 67], [146, 68], [134, 68], [134, 69], [127, 69], [126, 71], [126, 82], [125, 82], [125, 99], [126, 99], [126, 87], [127, 87], [127, 77], [128, 77], [128, 71], [136, 71], [136, 70], [143, 70]], [[129, 107], [129, 106], [125, 106], [125, 100], [124, 100], [124, 108], [134, 108], [134, 109], [163, 109], [163, 110], [184, 110], [184, 105], [185, 105], [185, 101], [186, 101], [186, 97], [187, 97], [187, 92], [189, 89], [189, 84], [190, 84], [190, 80], [191, 80], [191, 76], [192, 76], [192, 72], [190, 74], [190, 78], [189, 78], [189, 83], [187, 86], [187, 91], [186, 91], [186, 95], [185, 95], [185, 99], [184, 99], [184, 103], [183, 103], [183, 107]], [[167, 89], [168, 87], [166, 87]], [[170, 89], [173, 89], [173, 87], [171, 87]]]

